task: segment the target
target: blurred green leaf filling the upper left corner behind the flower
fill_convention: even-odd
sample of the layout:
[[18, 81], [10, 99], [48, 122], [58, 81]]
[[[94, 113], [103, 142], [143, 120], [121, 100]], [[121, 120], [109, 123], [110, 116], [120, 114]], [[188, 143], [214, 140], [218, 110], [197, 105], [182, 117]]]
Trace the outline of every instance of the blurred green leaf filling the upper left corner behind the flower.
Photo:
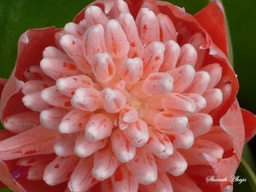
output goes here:
[[0, 77], [8, 78], [17, 55], [20, 35], [31, 28], [63, 27], [90, 1], [0, 1]]

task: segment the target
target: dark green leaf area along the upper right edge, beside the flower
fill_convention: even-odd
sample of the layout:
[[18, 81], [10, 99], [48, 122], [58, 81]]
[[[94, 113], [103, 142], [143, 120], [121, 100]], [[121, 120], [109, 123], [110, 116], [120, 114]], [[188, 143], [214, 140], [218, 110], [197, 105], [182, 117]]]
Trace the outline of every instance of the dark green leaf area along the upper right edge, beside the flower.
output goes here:
[[224, 0], [234, 49], [234, 65], [240, 82], [241, 107], [256, 113], [256, 1]]

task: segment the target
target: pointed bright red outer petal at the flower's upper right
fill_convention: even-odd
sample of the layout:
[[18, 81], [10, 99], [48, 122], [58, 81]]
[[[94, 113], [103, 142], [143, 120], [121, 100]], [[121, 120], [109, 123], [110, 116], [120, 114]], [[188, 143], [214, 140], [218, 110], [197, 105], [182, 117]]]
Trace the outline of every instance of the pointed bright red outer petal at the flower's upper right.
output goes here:
[[225, 55], [228, 55], [226, 20], [222, 4], [218, 0], [209, 3], [207, 7], [201, 9], [195, 15], [195, 19], [207, 30], [212, 41], [218, 45]]

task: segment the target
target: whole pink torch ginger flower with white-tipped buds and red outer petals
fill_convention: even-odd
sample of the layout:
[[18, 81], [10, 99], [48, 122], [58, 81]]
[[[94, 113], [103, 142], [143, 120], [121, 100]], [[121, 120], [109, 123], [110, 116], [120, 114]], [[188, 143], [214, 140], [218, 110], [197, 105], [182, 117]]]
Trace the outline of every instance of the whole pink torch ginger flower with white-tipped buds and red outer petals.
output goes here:
[[[0, 180], [17, 192], [232, 191], [256, 119], [236, 101], [218, 1], [96, 1], [25, 32], [1, 97]], [[2, 90], [2, 88], [1, 88]]]

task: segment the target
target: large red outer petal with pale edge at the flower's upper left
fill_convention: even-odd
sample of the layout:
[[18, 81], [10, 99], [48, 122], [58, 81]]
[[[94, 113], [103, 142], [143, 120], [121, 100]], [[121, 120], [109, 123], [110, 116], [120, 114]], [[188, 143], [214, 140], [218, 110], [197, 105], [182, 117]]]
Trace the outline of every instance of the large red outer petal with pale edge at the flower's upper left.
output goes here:
[[55, 45], [54, 34], [58, 29], [48, 27], [44, 29], [31, 29], [20, 36], [18, 43], [18, 56], [13, 73], [3, 88], [0, 104], [1, 120], [11, 114], [20, 113], [28, 109], [21, 102], [20, 87], [25, 81], [24, 72], [27, 67], [39, 65], [45, 47]]

